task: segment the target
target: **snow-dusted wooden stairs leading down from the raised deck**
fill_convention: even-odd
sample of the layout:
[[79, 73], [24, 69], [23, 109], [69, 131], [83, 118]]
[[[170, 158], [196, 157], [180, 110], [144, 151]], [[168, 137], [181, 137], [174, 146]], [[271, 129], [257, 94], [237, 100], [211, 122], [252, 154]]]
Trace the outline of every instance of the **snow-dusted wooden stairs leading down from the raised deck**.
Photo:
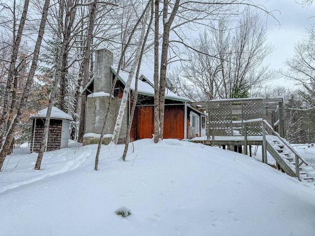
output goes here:
[[[307, 181], [315, 184], [315, 169], [308, 167], [294, 148], [286, 141], [281, 140], [277, 136], [267, 136], [267, 151], [276, 160], [281, 169], [292, 177], [298, 177], [301, 181]], [[296, 161], [298, 162], [296, 164]], [[296, 171], [296, 168], [298, 170]]]

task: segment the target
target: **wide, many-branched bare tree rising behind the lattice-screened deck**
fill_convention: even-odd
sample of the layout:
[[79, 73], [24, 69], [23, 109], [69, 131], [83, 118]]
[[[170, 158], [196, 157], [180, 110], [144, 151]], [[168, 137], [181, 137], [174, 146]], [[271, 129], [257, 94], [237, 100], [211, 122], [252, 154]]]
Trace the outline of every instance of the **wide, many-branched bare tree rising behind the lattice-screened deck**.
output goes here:
[[199, 34], [196, 50], [184, 66], [185, 78], [209, 99], [248, 96], [250, 89], [274, 78], [268, 66], [262, 66], [273, 47], [266, 43], [259, 15], [248, 9], [235, 28], [230, 24], [228, 19], [220, 20]]

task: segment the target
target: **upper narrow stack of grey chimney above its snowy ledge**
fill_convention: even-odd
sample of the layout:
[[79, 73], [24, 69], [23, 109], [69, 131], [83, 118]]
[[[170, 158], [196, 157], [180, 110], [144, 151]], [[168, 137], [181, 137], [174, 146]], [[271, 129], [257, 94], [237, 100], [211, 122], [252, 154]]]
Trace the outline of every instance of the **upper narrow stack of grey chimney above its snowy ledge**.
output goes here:
[[94, 92], [110, 93], [112, 88], [113, 53], [106, 48], [95, 50]]

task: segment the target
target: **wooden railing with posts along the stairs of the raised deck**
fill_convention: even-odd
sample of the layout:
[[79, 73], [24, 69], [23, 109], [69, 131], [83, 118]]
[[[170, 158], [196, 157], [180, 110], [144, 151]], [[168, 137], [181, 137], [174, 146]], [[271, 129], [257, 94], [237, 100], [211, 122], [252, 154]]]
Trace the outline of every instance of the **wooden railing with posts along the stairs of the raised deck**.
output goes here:
[[[249, 120], [243, 120], [243, 124], [244, 124], [244, 144], [245, 147], [247, 147], [247, 124], [249, 123], [255, 123], [255, 122], [261, 122], [261, 129], [262, 129], [262, 159], [264, 163], [267, 163], [267, 145], [266, 145], [266, 126], [271, 130], [272, 134], [275, 135], [276, 137], [278, 137], [283, 143], [284, 146], [288, 149], [290, 149], [292, 151], [292, 153], [294, 153], [295, 155], [295, 176], [298, 177], [298, 179], [300, 180], [300, 166], [304, 163], [305, 165], [308, 165], [307, 162], [300, 157], [300, 155], [297, 153], [297, 151], [283, 138], [280, 136], [280, 134], [278, 132], [276, 132], [272, 126], [268, 123], [267, 120], [262, 119], [262, 118], [258, 118], [258, 119], [249, 119]], [[247, 148], [246, 149], [246, 153], [247, 154]], [[301, 162], [300, 162], [301, 161]], [[299, 163], [300, 162], [300, 163]]]

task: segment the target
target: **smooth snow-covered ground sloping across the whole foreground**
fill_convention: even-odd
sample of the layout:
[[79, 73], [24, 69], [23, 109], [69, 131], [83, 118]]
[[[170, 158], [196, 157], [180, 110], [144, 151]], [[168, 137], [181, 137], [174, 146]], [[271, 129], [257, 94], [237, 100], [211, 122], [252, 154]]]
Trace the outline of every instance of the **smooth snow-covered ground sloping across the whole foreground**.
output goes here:
[[[96, 145], [46, 152], [40, 171], [36, 153], [15, 149], [0, 173], [0, 235], [315, 235], [315, 185], [219, 148], [133, 145], [126, 162], [124, 146], [103, 146], [98, 171]], [[314, 147], [299, 152], [314, 162]]]

